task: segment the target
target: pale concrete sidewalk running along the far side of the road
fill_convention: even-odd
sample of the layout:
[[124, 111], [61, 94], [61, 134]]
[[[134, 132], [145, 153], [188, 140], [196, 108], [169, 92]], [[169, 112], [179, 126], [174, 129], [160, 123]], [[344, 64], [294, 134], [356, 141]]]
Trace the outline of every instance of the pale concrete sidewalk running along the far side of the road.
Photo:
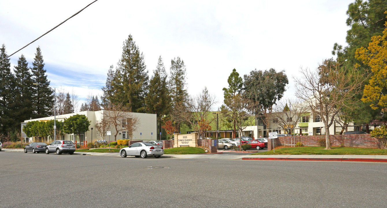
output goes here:
[[[4, 152], [23, 152], [23, 149], [3, 149]], [[55, 154], [55, 153], [53, 153]], [[120, 153], [74, 152], [74, 155], [120, 157]], [[387, 162], [387, 155], [167, 155], [161, 158], [175, 159], [216, 159], [216, 160], [283, 160], [283, 161], [336, 161], [336, 162]]]

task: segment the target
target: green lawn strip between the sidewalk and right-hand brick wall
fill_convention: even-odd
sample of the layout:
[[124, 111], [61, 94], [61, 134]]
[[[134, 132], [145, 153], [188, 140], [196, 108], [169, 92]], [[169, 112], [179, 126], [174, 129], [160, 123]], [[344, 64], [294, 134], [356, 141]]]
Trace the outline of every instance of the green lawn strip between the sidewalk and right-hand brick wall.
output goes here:
[[287, 147], [280, 148], [252, 155], [387, 155], [385, 149], [358, 148], [358, 147], [331, 147], [331, 150], [325, 150], [325, 147]]

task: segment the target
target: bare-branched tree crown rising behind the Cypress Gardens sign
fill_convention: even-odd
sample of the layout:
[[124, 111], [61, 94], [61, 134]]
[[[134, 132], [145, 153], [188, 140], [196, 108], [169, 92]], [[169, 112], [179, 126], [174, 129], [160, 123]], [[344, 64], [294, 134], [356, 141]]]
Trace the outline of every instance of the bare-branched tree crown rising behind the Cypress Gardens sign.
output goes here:
[[[176, 123], [188, 123], [195, 132], [203, 136], [205, 132], [200, 129], [199, 121], [209, 118], [208, 116], [216, 102], [215, 96], [209, 94], [205, 87], [199, 95], [189, 96], [187, 102], [177, 103], [171, 113], [171, 118]], [[207, 120], [208, 123], [212, 121], [213, 119]]]

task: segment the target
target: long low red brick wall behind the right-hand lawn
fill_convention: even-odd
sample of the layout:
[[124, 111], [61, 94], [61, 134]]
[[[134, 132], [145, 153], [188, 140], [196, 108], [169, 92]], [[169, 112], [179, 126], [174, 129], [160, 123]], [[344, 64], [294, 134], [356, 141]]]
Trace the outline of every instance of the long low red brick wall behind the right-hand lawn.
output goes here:
[[[304, 146], [319, 146], [317, 141], [325, 140], [325, 135], [319, 136], [295, 136], [295, 139], [290, 136], [280, 136], [274, 139], [274, 147], [281, 145], [292, 145], [297, 142], [302, 142]], [[348, 135], [330, 135], [330, 145], [340, 146], [343, 143], [345, 147], [365, 147], [365, 148], [382, 148], [383, 146], [370, 134], [348, 134]], [[273, 144], [271, 140], [267, 142], [267, 150], [272, 150]]]

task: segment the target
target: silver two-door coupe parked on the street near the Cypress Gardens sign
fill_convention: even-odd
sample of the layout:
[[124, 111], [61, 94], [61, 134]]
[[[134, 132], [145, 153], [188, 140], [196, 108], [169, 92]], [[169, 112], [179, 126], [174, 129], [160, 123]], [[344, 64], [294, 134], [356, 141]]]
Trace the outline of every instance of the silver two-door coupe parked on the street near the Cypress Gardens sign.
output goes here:
[[161, 155], [164, 155], [164, 149], [161, 146], [154, 145], [148, 142], [137, 142], [129, 147], [124, 147], [120, 149], [121, 157], [134, 156], [146, 158], [148, 156], [154, 155], [154, 157], [159, 158]]

